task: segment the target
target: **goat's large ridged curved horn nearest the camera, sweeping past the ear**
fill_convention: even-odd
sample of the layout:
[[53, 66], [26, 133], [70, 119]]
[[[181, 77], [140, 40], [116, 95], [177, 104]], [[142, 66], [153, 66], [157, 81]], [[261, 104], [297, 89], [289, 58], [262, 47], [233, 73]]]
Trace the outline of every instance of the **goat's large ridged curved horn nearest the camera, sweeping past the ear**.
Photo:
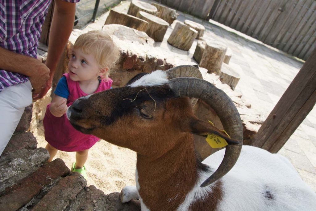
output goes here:
[[179, 77], [169, 80], [169, 86], [177, 97], [198, 98], [210, 105], [230, 137], [240, 141], [239, 144], [228, 143], [222, 163], [201, 185], [201, 187], [206, 187], [233, 168], [239, 157], [243, 141], [243, 128], [239, 112], [226, 93], [205, 80]]

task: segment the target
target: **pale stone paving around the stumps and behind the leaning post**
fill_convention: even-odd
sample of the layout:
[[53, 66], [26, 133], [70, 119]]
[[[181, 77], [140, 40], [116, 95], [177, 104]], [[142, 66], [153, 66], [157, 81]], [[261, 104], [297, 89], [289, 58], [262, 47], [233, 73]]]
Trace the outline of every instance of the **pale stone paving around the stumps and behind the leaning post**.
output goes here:
[[[157, 3], [151, 0], [143, 1]], [[129, 1], [121, 2], [115, 9], [127, 13], [129, 4]], [[258, 110], [262, 120], [265, 120], [304, 61], [213, 20], [205, 21], [179, 11], [177, 13], [179, 13], [178, 21], [184, 22], [188, 19], [204, 25], [204, 38], [223, 42], [232, 50], [229, 66], [240, 74], [240, 81], [235, 91], [240, 92], [242, 99], [249, 102], [253, 109]], [[100, 29], [107, 15], [108, 12], [85, 30]], [[173, 27], [174, 23], [167, 29], [164, 40], [156, 42], [155, 45], [177, 53], [175, 59], [196, 62], [193, 53], [197, 40], [189, 51], [180, 50], [167, 43]], [[316, 191], [316, 108], [307, 115], [279, 153], [289, 158], [302, 179]]]

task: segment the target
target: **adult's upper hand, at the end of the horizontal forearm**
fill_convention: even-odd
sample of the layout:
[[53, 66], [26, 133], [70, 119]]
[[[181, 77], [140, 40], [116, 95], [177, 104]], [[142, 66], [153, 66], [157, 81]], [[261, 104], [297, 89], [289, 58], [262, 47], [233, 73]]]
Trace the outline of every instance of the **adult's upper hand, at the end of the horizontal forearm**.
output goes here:
[[38, 94], [41, 92], [42, 89], [46, 87], [46, 82], [49, 79], [49, 73], [51, 71], [45, 64], [41, 63], [40, 61], [33, 61], [33, 67], [29, 67], [32, 68], [29, 78], [33, 87], [33, 94]]

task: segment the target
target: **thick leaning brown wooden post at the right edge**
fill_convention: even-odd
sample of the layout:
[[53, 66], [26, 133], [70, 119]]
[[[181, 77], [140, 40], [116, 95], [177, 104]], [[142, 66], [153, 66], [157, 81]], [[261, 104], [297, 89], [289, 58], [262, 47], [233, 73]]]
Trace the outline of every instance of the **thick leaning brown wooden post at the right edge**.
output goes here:
[[316, 102], [316, 49], [295, 76], [251, 142], [272, 153], [278, 152]]

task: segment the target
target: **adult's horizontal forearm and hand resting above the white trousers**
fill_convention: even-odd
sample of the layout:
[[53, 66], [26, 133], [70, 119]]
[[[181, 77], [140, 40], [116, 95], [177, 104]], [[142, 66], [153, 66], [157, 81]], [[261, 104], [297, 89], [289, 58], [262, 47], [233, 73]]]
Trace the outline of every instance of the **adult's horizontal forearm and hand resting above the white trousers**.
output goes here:
[[40, 93], [49, 79], [49, 68], [30, 56], [17, 54], [0, 47], [0, 69], [29, 76], [33, 93]]

